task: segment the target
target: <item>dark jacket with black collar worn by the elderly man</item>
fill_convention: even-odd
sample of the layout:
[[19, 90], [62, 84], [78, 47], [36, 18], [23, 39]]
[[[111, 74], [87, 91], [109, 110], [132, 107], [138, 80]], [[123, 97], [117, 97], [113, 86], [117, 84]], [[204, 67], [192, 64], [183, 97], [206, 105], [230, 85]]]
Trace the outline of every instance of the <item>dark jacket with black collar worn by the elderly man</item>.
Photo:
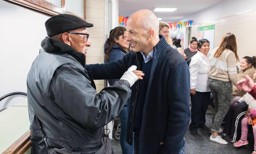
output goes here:
[[82, 53], [48, 37], [41, 45], [45, 51], [27, 77], [32, 153], [47, 153], [35, 115], [49, 148], [95, 153], [104, 137], [103, 126], [118, 116], [131, 90], [115, 82], [97, 93]]

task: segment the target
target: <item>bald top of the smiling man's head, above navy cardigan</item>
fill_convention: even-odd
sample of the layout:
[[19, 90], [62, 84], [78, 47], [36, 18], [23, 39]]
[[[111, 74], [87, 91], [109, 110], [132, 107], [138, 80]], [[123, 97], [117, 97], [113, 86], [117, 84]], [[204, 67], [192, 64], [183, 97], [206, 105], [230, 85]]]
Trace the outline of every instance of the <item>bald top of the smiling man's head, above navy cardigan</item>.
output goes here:
[[[136, 25], [143, 27], [145, 30], [154, 29], [155, 34], [158, 37], [159, 21], [157, 16], [150, 10], [139, 10], [133, 13], [128, 21], [136, 22]], [[128, 22], [127, 21], [127, 22]]]

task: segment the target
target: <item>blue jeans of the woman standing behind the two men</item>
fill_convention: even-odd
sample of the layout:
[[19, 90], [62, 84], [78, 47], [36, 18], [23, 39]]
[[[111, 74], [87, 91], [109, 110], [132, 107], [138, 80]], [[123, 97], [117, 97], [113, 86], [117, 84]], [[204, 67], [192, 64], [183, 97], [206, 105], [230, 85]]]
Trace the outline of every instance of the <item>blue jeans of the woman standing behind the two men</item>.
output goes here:
[[121, 122], [121, 134], [120, 134], [120, 144], [122, 148], [122, 154], [132, 154], [134, 149], [133, 145], [129, 145], [126, 142], [126, 131], [127, 131], [127, 119], [128, 119], [128, 114], [127, 114], [127, 106], [124, 106], [123, 109], [121, 110], [120, 114], [120, 122]]

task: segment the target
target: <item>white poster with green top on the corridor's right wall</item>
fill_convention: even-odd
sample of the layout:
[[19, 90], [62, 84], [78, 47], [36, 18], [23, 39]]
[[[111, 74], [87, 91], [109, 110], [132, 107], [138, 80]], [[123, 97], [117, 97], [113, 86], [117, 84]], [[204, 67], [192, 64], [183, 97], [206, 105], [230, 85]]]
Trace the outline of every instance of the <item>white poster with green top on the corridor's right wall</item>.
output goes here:
[[210, 51], [211, 54], [214, 45], [214, 29], [215, 25], [208, 25], [203, 27], [198, 27], [197, 29], [197, 40], [207, 39], [210, 42]]

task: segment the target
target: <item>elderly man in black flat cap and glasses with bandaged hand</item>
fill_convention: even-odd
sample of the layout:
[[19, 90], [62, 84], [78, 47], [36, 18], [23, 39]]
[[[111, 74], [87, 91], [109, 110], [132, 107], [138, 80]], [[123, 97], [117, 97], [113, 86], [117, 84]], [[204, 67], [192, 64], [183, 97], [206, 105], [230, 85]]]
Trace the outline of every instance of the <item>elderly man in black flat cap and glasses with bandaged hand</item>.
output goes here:
[[118, 116], [130, 86], [144, 74], [132, 66], [97, 93], [84, 69], [92, 26], [69, 14], [45, 22], [48, 37], [27, 77], [32, 153], [112, 153], [103, 126]]

